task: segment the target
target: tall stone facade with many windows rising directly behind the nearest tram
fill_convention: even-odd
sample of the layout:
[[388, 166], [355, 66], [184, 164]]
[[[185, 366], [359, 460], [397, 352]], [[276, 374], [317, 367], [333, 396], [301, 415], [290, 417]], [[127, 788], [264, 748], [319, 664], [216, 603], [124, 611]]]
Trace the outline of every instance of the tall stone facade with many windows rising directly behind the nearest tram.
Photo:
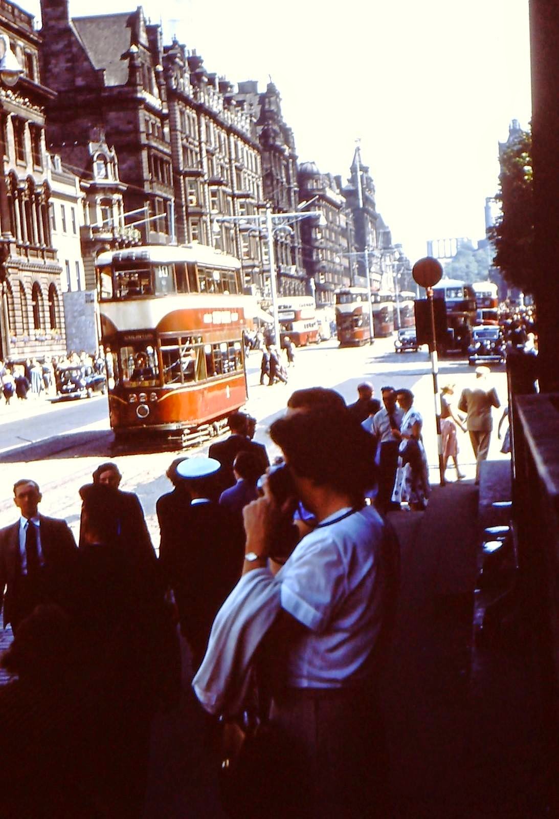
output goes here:
[[255, 117], [227, 79], [176, 40], [165, 48], [165, 83], [174, 172], [178, 242], [213, 245], [241, 260], [248, 292], [262, 292], [264, 242], [241, 221], [263, 206]]

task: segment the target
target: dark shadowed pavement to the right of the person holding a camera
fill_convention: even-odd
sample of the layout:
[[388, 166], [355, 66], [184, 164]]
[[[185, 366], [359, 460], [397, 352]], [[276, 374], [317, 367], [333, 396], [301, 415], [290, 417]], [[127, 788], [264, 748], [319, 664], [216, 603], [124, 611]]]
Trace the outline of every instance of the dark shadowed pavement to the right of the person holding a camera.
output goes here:
[[472, 482], [437, 486], [425, 513], [390, 515], [403, 564], [385, 686], [398, 819], [548, 815], [538, 807], [541, 724], [530, 645], [473, 645], [477, 564], [490, 523], [480, 509], [510, 497], [503, 474], [482, 477], [480, 498]]

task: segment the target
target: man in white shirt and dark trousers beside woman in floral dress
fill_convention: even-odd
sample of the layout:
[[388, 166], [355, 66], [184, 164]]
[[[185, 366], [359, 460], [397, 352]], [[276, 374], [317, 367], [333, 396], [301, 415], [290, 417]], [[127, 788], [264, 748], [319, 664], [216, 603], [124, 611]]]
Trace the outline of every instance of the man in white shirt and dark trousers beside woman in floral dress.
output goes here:
[[391, 506], [397, 508], [398, 505], [391, 503], [392, 490], [394, 489], [394, 478], [398, 468], [398, 447], [399, 437], [395, 437], [393, 429], [400, 428], [402, 423], [403, 410], [396, 404], [396, 391], [394, 387], [382, 387], [382, 403], [384, 406], [379, 409], [372, 419], [371, 432], [376, 436], [380, 446], [379, 469], [378, 469], [378, 492], [376, 494], [375, 505], [381, 514], [386, 514]]

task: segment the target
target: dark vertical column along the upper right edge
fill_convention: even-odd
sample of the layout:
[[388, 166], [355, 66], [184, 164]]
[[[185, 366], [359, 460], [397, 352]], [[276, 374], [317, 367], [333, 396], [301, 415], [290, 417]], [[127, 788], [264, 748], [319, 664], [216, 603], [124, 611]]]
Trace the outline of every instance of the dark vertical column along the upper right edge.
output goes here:
[[530, 0], [539, 383], [559, 391], [559, 5]]

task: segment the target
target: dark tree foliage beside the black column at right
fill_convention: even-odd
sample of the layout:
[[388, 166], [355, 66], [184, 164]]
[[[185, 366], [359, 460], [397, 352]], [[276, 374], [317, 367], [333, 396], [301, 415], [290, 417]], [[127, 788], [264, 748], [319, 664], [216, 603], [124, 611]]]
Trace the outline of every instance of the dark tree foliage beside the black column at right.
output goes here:
[[534, 186], [532, 135], [522, 131], [501, 156], [496, 200], [502, 214], [490, 238], [494, 265], [503, 278], [525, 293], [534, 292]]

